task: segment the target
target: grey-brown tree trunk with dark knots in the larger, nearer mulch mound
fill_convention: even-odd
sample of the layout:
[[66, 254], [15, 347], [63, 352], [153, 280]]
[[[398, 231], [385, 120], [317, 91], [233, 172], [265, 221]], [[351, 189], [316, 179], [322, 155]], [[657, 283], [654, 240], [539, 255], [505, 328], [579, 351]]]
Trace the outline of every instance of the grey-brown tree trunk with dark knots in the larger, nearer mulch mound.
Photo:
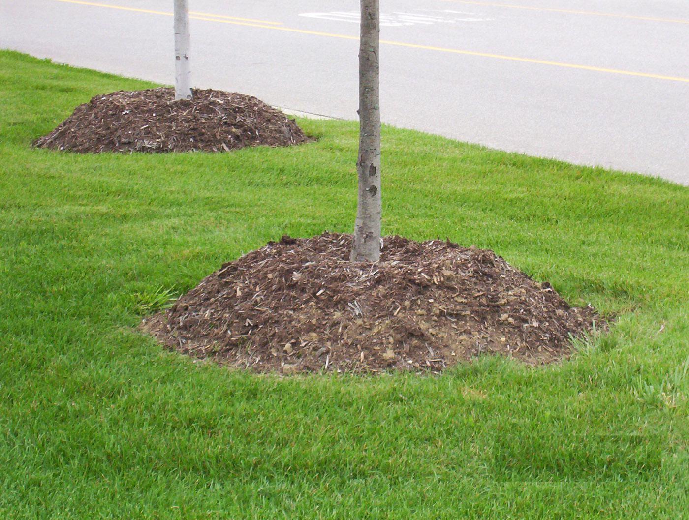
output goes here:
[[380, 105], [378, 48], [380, 1], [360, 0], [359, 41], [359, 195], [350, 260], [380, 259]]

